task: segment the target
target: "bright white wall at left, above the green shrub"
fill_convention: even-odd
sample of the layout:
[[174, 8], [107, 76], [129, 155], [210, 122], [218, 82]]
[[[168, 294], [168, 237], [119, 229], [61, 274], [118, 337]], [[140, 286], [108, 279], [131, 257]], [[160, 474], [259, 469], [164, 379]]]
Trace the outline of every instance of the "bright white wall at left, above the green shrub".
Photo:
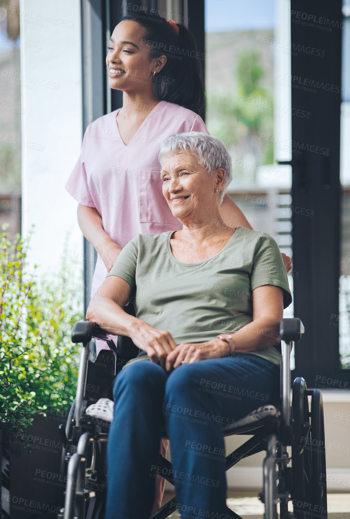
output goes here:
[[83, 247], [64, 189], [82, 143], [79, 0], [20, 0], [20, 31], [22, 234], [35, 224], [28, 258], [44, 272], [61, 263], [67, 231], [74, 251]]

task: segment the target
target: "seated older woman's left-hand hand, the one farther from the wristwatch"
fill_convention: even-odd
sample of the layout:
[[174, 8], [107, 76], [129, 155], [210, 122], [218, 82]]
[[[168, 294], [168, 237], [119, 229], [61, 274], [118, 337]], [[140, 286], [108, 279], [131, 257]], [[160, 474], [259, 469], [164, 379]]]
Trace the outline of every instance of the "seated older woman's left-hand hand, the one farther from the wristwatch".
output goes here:
[[141, 319], [131, 324], [129, 337], [135, 346], [147, 353], [151, 362], [161, 367], [165, 367], [167, 355], [177, 347], [169, 332], [157, 330]]

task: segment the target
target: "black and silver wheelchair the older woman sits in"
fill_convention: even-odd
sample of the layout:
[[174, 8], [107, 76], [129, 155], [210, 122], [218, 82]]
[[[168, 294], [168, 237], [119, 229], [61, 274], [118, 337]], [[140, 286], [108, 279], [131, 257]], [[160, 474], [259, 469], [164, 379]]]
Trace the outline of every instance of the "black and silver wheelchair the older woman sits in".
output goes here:
[[[248, 456], [266, 451], [263, 486], [264, 519], [327, 519], [327, 478], [325, 429], [322, 395], [308, 390], [305, 380], [294, 380], [291, 399], [290, 352], [304, 327], [300, 319], [280, 321], [282, 363], [280, 405], [263, 406], [233, 424], [223, 426], [223, 435], [248, 434], [248, 441], [226, 457], [226, 470]], [[102, 350], [95, 362], [89, 357], [92, 337], [104, 339], [109, 350]], [[63, 448], [62, 480], [57, 519], [103, 519], [106, 499], [106, 447], [110, 422], [92, 418], [85, 409], [100, 398], [112, 396], [115, 376], [139, 349], [128, 337], [118, 338], [117, 347], [107, 333], [88, 321], [78, 322], [72, 342], [82, 343], [76, 398], [65, 425], [59, 426]], [[127, 340], [125, 340], [127, 339]], [[129, 342], [128, 342], [129, 341]], [[309, 408], [308, 397], [311, 397]], [[164, 429], [162, 438], [167, 438]], [[291, 447], [291, 458], [287, 447]], [[289, 466], [291, 462], [291, 467]], [[172, 465], [159, 454], [159, 473], [173, 484]], [[291, 501], [293, 511], [289, 509]], [[165, 519], [177, 509], [176, 497], [155, 512], [151, 519]], [[181, 512], [181, 511], [179, 511]], [[235, 512], [233, 516], [239, 518]]]

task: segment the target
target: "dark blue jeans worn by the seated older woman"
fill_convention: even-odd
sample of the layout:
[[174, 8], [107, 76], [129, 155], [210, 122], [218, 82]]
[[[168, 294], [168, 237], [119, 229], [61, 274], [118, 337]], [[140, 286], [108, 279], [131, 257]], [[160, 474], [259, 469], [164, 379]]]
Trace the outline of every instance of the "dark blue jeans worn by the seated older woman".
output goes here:
[[279, 367], [238, 353], [182, 364], [171, 373], [150, 360], [115, 379], [108, 442], [105, 519], [149, 519], [161, 428], [170, 440], [182, 519], [228, 519], [222, 427], [279, 402]]

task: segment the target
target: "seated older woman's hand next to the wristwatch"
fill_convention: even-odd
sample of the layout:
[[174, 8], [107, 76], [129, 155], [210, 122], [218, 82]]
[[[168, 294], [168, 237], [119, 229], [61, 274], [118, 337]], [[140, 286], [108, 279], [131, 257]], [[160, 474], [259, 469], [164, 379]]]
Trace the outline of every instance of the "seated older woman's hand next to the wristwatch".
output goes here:
[[174, 370], [181, 364], [198, 360], [217, 359], [230, 353], [230, 346], [225, 340], [212, 339], [205, 343], [182, 343], [171, 351], [166, 358], [166, 371]]

